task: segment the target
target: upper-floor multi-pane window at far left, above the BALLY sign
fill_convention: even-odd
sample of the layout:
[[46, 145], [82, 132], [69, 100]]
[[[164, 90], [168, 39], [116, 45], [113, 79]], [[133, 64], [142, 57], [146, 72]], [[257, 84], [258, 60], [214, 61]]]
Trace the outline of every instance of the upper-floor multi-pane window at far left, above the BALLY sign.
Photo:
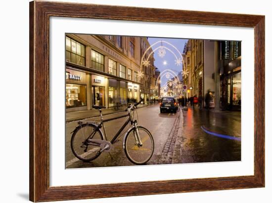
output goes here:
[[66, 61], [85, 66], [85, 45], [66, 37]]

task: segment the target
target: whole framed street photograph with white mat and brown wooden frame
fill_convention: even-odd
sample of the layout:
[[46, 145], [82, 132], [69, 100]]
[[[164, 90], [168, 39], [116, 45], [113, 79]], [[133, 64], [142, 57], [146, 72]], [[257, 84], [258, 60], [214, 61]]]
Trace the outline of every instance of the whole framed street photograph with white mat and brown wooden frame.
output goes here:
[[264, 23], [30, 2], [30, 200], [265, 187]]

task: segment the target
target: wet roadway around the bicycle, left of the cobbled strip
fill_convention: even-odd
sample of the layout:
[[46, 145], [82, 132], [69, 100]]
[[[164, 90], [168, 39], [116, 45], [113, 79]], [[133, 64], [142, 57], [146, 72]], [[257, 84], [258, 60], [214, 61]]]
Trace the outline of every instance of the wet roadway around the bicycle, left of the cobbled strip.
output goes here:
[[[126, 114], [125, 112], [116, 113], [112, 115], [104, 116], [104, 119], [117, 117], [120, 115]], [[164, 163], [161, 161], [162, 152], [168, 140], [169, 134], [173, 128], [175, 121], [177, 122], [177, 116], [180, 114], [180, 111], [177, 114], [174, 113], [163, 113], [160, 114], [159, 105], [148, 106], [144, 108], [137, 109], [138, 114], [138, 123], [146, 127], [151, 134], [153, 135], [155, 142], [154, 154], [151, 160], [147, 164], [158, 164]], [[136, 113], [135, 113], [136, 118]], [[99, 121], [99, 118], [90, 119], [91, 121]], [[108, 140], [110, 140], [118, 129], [123, 125], [127, 118], [122, 118], [118, 120], [113, 120], [110, 122], [105, 122], [105, 128]], [[68, 122], [66, 123], [66, 167], [67, 168], [76, 168], [76, 167], [98, 167], [98, 166], [122, 166], [122, 165], [133, 165], [125, 155], [123, 149], [123, 137], [124, 133], [129, 129], [127, 126], [123, 130], [123, 134], [119, 137], [119, 142], [113, 144], [113, 150], [109, 153], [102, 153], [97, 159], [92, 162], [82, 162], [75, 158], [71, 151], [70, 140], [72, 134], [71, 131], [77, 126], [77, 122]], [[173, 143], [175, 144], [175, 143]], [[172, 144], [172, 146], [173, 146]], [[167, 150], [169, 151], [169, 150]], [[173, 147], [172, 147], [173, 151]]]

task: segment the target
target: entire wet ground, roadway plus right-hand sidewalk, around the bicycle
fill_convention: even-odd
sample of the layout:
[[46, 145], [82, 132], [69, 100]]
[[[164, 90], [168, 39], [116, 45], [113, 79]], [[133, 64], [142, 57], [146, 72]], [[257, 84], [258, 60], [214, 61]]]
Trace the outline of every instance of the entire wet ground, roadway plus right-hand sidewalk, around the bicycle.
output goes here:
[[[125, 115], [119, 112], [106, 115], [109, 119]], [[136, 118], [138, 117], [138, 118]], [[240, 138], [240, 112], [214, 112], [213, 110], [178, 111], [160, 114], [159, 105], [137, 109], [135, 113], [139, 125], [146, 127], [154, 138], [155, 149], [152, 158], [147, 164], [193, 163], [193, 162], [226, 162], [241, 160], [241, 142], [228, 139]], [[91, 121], [99, 121], [92, 118]], [[108, 140], [115, 135], [127, 118], [105, 122]], [[75, 158], [71, 151], [71, 131], [77, 122], [66, 123], [66, 168], [103, 167], [134, 165], [128, 160], [123, 149], [123, 137], [129, 126], [125, 128], [119, 141], [113, 144], [110, 153], [104, 152], [91, 162], [82, 162]], [[205, 127], [210, 132], [227, 135], [222, 138], [203, 131]]]

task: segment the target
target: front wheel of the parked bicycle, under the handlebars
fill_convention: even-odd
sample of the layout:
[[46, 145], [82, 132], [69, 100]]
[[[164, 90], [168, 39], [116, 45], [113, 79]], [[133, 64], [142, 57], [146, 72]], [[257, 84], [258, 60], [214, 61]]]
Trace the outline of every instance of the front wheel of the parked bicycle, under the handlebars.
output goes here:
[[138, 126], [138, 132], [142, 146], [137, 143], [136, 128], [132, 128], [125, 138], [124, 150], [131, 162], [140, 165], [148, 162], [152, 157], [154, 140], [146, 128]]

